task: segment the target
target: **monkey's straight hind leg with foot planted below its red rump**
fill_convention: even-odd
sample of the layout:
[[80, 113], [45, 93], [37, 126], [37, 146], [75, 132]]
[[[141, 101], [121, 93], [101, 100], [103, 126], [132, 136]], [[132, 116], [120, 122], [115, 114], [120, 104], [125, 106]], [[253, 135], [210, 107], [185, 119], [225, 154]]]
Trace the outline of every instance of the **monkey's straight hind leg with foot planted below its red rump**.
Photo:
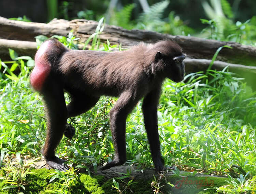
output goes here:
[[68, 166], [64, 164], [66, 160], [62, 160], [55, 156], [55, 149], [59, 144], [65, 130], [68, 112], [66, 108], [63, 87], [49, 76], [42, 90], [47, 116], [47, 133], [46, 141], [43, 148], [43, 156], [46, 163], [58, 169], [65, 171]]

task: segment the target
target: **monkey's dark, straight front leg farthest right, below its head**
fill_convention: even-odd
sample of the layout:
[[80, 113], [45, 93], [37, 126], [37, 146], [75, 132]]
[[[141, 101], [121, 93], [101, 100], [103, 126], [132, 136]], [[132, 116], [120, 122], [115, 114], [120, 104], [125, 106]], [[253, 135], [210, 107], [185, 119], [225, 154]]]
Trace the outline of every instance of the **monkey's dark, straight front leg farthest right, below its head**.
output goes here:
[[164, 169], [164, 161], [161, 158], [160, 153], [160, 141], [157, 126], [157, 104], [159, 93], [159, 90], [150, 92], [145, 96], [142, 104], [145, 129], [150, 144], [152, 159], [157, 172]]

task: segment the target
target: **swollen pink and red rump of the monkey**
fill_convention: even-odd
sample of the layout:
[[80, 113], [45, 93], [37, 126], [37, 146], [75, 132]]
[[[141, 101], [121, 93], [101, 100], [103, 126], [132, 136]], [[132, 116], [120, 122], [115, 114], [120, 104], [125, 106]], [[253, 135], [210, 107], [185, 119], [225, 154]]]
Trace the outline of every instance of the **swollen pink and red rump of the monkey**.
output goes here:
[[56, 39], [42, 43], [35, 54], [35, 67], [30, 75], [30, 83], [35, 90], [42, 90], [49, 73], [58, 65], [59, 57], [67, 51], [69, 51], [67, 47]]

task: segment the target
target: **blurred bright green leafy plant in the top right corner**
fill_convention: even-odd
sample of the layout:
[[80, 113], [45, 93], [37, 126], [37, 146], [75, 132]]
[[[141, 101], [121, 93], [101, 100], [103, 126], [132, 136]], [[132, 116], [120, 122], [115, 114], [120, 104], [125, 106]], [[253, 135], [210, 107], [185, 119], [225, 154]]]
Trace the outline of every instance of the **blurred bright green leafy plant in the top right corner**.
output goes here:
[[205, 28], [202, 31], [204, 35], [216, 40], [231, 40], [245, 44], [255, 44], [255, 22], [247, 20], [243, 23], [241, 21], [234, 23], [234, 15], [227, 0], [216, 0], [210, 2], [212, 6], [210, 6], [207, 1], [202, 2], [204, 11], [210, 18], [210, 20], [201, 19], [202, 23], [209, 25], [208, 28]]

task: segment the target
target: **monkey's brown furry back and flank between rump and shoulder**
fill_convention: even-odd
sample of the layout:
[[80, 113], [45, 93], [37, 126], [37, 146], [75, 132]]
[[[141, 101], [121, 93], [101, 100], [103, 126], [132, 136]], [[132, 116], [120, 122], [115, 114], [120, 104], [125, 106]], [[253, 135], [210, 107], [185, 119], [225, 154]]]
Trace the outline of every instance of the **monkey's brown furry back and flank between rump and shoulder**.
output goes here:
[[145, 59], [142, 60], [133, 50], [69, 51], [61, 57], [59, 70], [61, 74], [65, 74], [65, 80], [69, 81], [63, 80], [67, 90], [72, 85], [72, 89], [75, 86], [85, 93], [112, 96], [118, 96], [126, 89], [138, 88], [138, 85], [142, 87], [150, 74], [150, 67], [146, 66]]

